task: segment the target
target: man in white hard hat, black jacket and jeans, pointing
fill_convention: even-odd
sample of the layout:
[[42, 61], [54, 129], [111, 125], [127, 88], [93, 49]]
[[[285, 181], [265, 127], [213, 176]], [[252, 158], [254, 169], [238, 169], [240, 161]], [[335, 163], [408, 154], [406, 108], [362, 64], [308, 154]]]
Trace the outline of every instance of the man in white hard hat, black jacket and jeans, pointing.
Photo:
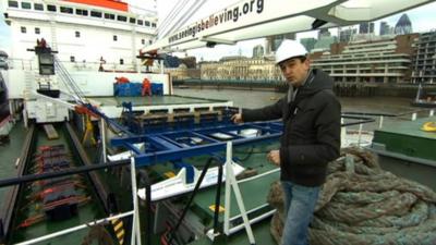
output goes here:
[[275, 105], [243, 110], [234, 123], [282, 119], [280, 149], [267, 159], [280, 166], [286, 220], [282, 245], [306, 245], [307, 229], [329, 161], [339, 157], [341, 106], [332, 93], [332, 79], [312, 70], [307, 51], [300, 42], [283, 40], [276, 52], [289, 86]]

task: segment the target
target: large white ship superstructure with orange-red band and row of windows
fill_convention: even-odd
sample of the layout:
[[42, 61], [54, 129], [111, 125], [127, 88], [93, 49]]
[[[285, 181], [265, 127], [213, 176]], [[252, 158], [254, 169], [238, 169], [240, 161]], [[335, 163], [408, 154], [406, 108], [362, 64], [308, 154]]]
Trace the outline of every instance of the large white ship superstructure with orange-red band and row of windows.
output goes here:
[[[24, 108], [24, 122], [69, 120], [72, 106], [64, 102], [74, 98], [63, 91], [71, 93], [71, 83], [87, 98], [113, 97], [117, 77], [136, 83], [147, 78], [153, 84], [161, 84], [162, 95], [172, 94], [170, 75], [146, 72], [143, 65], [146, 60], [137, 58], [140, 49], [149, 46], [157, 36], [155, 0], [142, 1], [141, 8], [120, 0], [8, 0], [1, 3], [12, 40], [9, 70], [3, 71], [12, 118]], [[38, 45], [50, 48], [55, 57], [36, 56]], [[55, 63], [52, 71], [50, 68], [43, 71], [40, 64], [46, 61]], [[36, 93], [41, 89], [60, 91], [56, 93], [60, 94], [60, 99], [52, 100]], [[120, 117], [121, 102], [109, 99], [112, 102], [108, 99], [95, 102], [106, 115]], [[170, 111], [177, 108], [162, 103], [165, 101], [155, 99], [147, 105], [135, 102], [135, 107], [145, 112], [162, 107]], [[195, 105], [190, 110], [192, 107]]]

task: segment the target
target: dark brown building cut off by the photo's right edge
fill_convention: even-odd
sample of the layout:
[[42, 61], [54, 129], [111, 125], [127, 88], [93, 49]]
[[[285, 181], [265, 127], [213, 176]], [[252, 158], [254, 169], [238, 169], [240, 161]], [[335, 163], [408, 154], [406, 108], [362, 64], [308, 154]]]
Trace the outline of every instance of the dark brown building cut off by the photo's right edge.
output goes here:
[[415, 44], [412, 70], [413, 83], [436, 82], [436, 30], [420, 35]]

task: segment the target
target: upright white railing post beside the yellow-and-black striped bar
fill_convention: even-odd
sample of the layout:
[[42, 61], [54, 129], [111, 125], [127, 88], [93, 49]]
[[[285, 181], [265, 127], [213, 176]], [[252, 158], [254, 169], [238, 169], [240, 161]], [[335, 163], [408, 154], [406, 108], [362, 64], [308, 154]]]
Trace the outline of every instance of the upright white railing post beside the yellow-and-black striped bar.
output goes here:
[[[132, 245], [142, 245], [141, 243], [141, 225], [140, 225], [140, 205], [137, 203], [137, 186], [136, 186], [136, 166], [135, 158], [130, 159], [130, 173], [132, 177], [132, 198], [133, 198], [133, 225], [132, 225]], [[136, 240], [136, 243], [135, 243]]]

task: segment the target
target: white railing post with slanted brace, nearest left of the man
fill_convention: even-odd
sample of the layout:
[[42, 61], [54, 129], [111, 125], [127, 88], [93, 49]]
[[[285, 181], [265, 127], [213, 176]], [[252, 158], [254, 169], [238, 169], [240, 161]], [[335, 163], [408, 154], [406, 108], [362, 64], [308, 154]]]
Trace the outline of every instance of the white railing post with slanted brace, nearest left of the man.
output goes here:
[[[245, 211], [244, 200], [242, 199], [241, 191], [234, 176], [232, 164], [232, 143], [227, 143], [227, 160], [226, 160], [226, 211], [225, 211], [225, 232], [227, 228], [227, 233], [229, 233], [229, 216], [230, 216], [230, 186], [234, 189], [234, 197], [237, 198], [238, 207], [241, 212], [242, 220], [244, 221], [244, 226], [246, 234], [249, 236], [250, 244], [255, 244], [252, 226], [250, 225], [250, 220]], [[228, 183], [230, 182], [230, 183]]]

